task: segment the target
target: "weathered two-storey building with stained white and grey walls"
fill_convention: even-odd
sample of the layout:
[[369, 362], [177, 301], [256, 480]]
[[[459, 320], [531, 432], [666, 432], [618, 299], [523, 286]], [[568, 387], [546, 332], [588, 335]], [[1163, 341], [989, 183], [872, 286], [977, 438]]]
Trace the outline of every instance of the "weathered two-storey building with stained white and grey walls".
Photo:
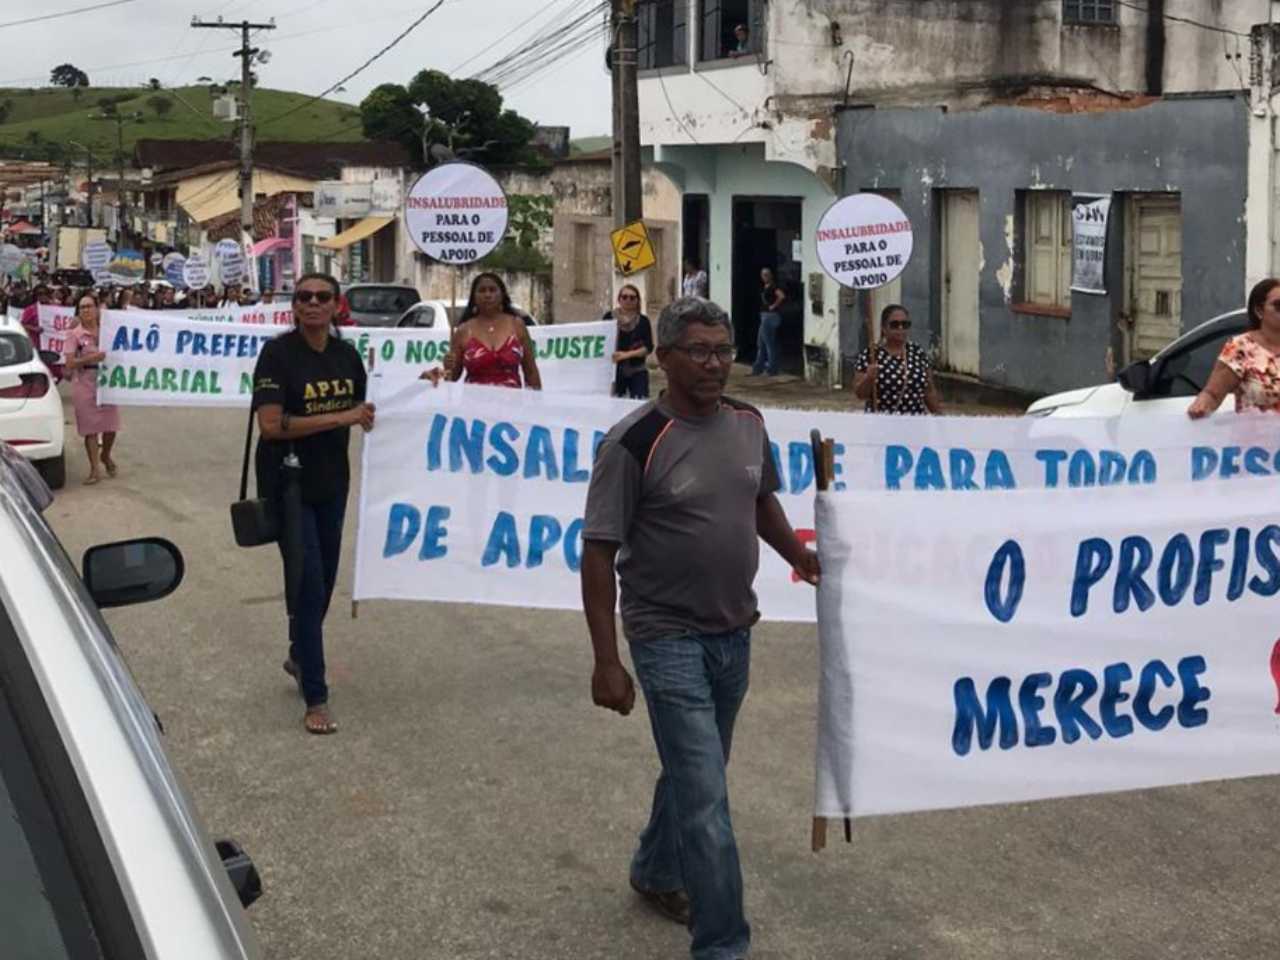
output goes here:
[[[1243, 301], [1251, 29], [1270, 0], [640, 8], [641, 138], [746, 357], [762, 266], [788, 294], [791, 369], [828, 383], [887, 302], [943, 369], [1046, 392]], [[915, 255], [855, 296], [820, 273], [814, 234], [863, 189], [902, 205]], [[1070, 289], [1071, 193], [1112, 198], [1105, 294]]]

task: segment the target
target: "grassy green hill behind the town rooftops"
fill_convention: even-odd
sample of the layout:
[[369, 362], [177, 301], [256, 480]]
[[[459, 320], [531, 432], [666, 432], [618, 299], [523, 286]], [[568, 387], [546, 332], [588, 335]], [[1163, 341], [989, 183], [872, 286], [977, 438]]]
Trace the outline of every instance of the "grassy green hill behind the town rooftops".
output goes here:
[[[91, 120], [102, 113], [100, 101], [113, 100], [122, 114], [141, 113], [141, 122], [124, 124], [124, 150], [132, 154], [133, 141], [156, 140], [223, 140], [236, 136], [236, 124], [215, 120], [212, 95], [207, 87], [81, 87], [77, 97], [64, 87], [26, 90], [0, 88], [0, 154], [28, 159], [59, 159], [60, 148], [76, 141], [93, 150], [102, 161], [111, 161], [116, 148], [114, 122]], [[172, 106], [160, 113], [148, 102], [164, 97]], [[306, 93], [283, 90], [255, 90], [253, 122], [257, 138], [285, 141], [355, 141], [364, 140], [360, 111], [349, 104], [316, 100], [305, 108], [273, 120], [279, 114], [305, 104]], [[183, 102], [186, 101], [186, 102]], [[161, 108], [164, 110], [164, 108]], [[82, 151], [65, 147], [72, 155]]]

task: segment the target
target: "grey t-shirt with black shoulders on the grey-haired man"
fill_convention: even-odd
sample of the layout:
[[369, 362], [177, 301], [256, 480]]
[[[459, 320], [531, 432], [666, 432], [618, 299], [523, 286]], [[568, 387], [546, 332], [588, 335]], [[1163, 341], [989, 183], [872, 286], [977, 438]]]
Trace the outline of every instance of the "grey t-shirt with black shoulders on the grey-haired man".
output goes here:
[[755, 621], [755, 504], [781, 485], [764, 419], [727, 397], [700, 419], [653, 401], [608, 433], [582, 538], [621, 544], [628, 640], [723, 634]]

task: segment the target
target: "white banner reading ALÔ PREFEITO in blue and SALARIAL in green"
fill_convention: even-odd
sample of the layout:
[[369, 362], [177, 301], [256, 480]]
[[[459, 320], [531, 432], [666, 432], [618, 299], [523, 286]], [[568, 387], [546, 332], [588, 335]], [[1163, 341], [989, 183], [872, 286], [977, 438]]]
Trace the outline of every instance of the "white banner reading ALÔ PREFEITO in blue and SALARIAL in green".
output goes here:
[[[265, 323], [210, 324], [170, 311], [106, 310], [99, 396], [122, 406], [247, 407], [262, 344], [285, 329]], [[545, 390], [608, 394], [617, 343], [613, 323], [530, 332]], [[371, 351], [374, 369], [388, 380], [410, 380], [415, 389], [431, 389], [417, 376], [439, 366], [448, 349], [443, 330], [346, 328], [343, 337], [366, 362]]]

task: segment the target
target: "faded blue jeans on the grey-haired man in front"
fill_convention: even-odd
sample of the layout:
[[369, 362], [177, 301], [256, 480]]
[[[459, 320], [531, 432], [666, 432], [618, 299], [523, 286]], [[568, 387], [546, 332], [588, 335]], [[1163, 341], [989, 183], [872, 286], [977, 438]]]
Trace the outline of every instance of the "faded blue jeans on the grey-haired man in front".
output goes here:
[[751, 631], [632, 643], [631, 662], [662, 760], [631, 881], [689, 895], [695, 960], [736, 960], [746, 956], [751, 928], [724, 768], [746, 696]]

